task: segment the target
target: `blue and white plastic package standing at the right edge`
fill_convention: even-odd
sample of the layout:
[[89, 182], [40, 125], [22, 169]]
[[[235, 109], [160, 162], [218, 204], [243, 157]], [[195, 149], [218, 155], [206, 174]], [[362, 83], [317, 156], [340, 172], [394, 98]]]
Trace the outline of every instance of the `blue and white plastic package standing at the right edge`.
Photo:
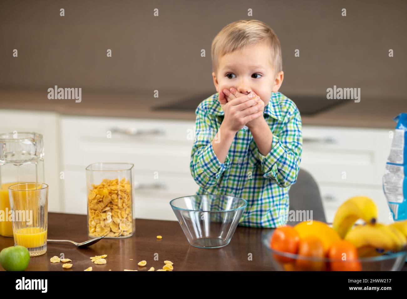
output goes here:
[[392, 148], [383, 176], [383, 191], [393, 219], [407, 219], [407, 113], [396, 116]]

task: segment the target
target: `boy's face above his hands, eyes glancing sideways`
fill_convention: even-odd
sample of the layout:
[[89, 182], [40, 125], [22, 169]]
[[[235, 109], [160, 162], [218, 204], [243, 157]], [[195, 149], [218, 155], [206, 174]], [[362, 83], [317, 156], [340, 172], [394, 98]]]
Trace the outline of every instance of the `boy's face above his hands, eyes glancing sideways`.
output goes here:
[[271, 92], [277, 92], [283, 80], [283, 72], [274, 73], [270, 57], [267, 43], [247, 46], [220, 57], [217, 74], [212, 73], [217, 92], [234, 87], [247, 95], [248, 90], [253, 90], [267, 105]]

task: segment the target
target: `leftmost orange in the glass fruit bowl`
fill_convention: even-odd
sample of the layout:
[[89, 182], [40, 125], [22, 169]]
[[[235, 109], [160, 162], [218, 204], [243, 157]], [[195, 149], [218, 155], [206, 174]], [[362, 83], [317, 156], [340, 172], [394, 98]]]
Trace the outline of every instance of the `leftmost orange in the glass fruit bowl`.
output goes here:
[[[284, 251], [288, 253], [297, 253], [298, 243], [300, 242], [300, 236], [292, 226], [281, 226], [277, 228], [271, 236], [270, 246], [274, 250]], [[278, 262], [288, 263], [294, 259], [290, 257], [284, 257], [282, 255], [274, 254], [274, 258]]]

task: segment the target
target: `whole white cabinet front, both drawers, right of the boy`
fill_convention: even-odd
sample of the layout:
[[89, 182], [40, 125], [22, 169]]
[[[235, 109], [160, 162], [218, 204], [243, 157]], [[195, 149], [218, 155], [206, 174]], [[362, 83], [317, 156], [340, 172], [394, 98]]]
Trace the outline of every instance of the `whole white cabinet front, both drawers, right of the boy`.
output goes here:
[[319, 185], [326, 220], [332, 222], [339, 205], [350, 197], [372, 198], [379, 221], [390, 223], [382, 189], [392, 139], [385, 129], [304, 126], [300, 167]]

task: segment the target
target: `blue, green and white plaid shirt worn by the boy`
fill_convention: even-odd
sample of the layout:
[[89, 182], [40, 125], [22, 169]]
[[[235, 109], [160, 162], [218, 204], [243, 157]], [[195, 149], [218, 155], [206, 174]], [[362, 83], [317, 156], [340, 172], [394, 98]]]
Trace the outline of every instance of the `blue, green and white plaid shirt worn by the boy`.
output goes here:
[[289, 212], [288, 191], [297, 180], [301, 162], [300, 111], [291, 99], [273, 92], [264, 108], [264, 118], [273, 133], [271, 151], [266, 156], [260, 154], [252, 133], [244, 126], [236, 133], [225, 162], [220, 163], [212, 148], [225, 115], [218, 96], [208, 97], [195, 110], [190, 162], [191, 174], [199, 185], [195, 195], [223, 194], [247, 200], [241, 226], [284, 225]]

